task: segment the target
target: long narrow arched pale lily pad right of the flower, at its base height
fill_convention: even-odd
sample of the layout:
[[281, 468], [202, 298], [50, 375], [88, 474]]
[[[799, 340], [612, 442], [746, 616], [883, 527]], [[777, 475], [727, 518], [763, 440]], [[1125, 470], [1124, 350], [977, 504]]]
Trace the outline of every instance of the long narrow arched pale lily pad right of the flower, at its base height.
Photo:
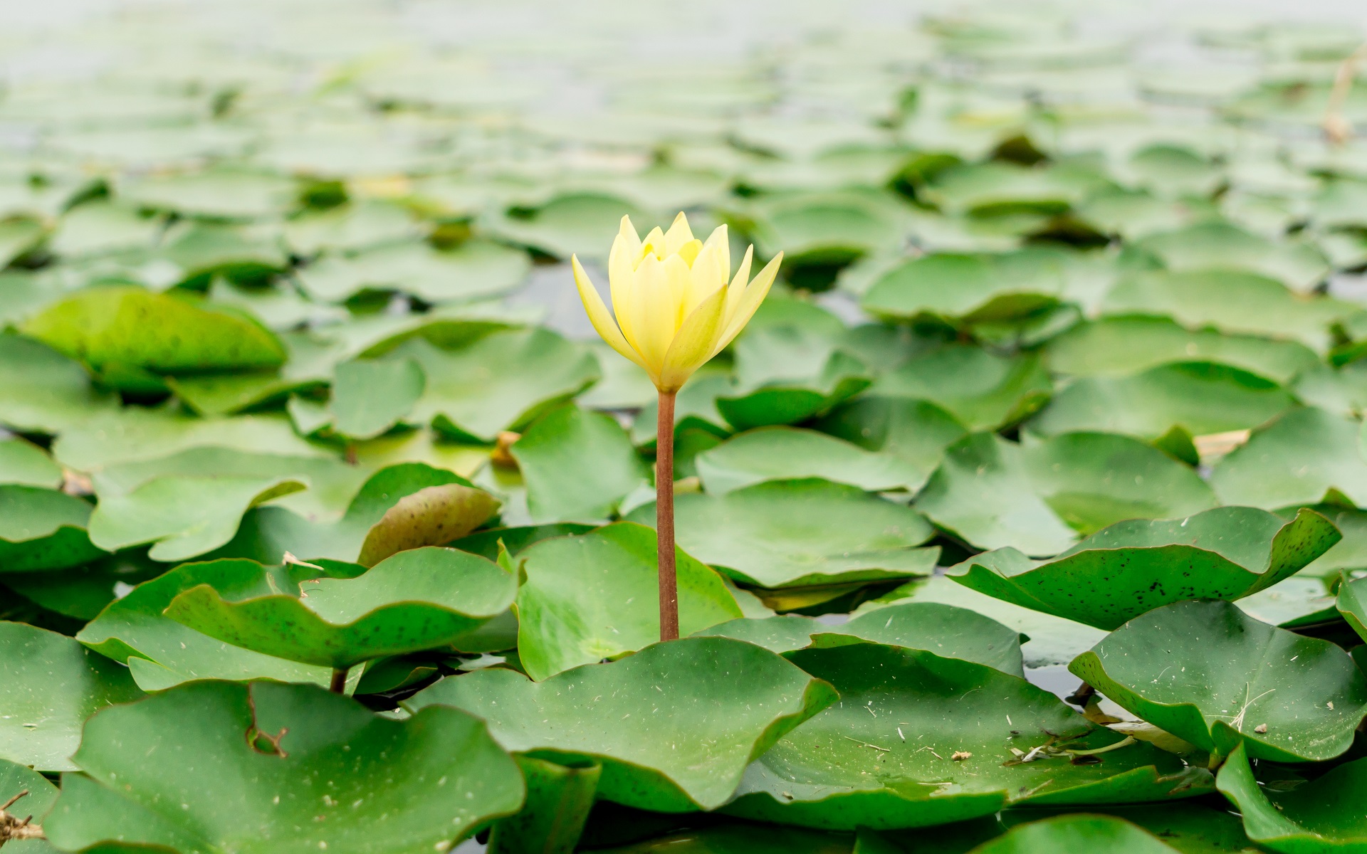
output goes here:
[[1299, 342], [1185, 329], [1167, 317], [1087, 321], [1046, 347], [1050, 369], [1074, 377], [1121, 377], [1185, 359], [1221, 362], [1282, 385], [1319, 363]]

